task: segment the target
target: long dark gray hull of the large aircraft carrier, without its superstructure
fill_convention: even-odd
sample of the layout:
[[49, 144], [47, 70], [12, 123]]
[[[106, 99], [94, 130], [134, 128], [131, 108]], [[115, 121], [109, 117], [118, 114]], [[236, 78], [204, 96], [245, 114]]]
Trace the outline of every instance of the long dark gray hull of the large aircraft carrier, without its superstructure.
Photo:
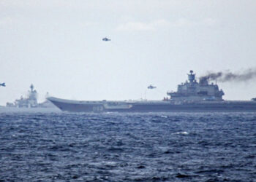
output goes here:
[[255, 112], [255, 101], [78, 101], [48, 98], [61, 111], [69, 112]]

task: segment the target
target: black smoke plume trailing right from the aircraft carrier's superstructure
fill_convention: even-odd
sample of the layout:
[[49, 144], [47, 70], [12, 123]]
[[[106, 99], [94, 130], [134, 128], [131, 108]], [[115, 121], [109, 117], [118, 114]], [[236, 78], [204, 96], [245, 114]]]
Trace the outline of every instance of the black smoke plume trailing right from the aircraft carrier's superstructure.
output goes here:
[[245, 71], [231, 72], [231, 71], [219, 71], [211, 72], [205, 76], [201, 76], [200, 79], [207, 79], [209, 81], [218, 80], [218, 82], [246, 82], [250, 79], [256, 78], [256, 68], [247, 69]]

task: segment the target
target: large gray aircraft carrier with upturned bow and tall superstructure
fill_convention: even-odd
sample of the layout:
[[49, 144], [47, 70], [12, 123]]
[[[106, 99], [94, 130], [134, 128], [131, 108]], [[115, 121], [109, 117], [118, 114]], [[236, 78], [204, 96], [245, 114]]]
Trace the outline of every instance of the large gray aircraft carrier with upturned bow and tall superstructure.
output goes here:
[[124, 101], [89, 101], [47, 98], [61, 111], [70, 112], [208, 112], [256, 111], [255, 100], [223, 100], [225, 95], [217, 83], [208, 83], [206, 77], [199, 82], [190, 71], [188, 80], [178, 84], [176, 92], [167, 92], [163, 100], [124, 100]]

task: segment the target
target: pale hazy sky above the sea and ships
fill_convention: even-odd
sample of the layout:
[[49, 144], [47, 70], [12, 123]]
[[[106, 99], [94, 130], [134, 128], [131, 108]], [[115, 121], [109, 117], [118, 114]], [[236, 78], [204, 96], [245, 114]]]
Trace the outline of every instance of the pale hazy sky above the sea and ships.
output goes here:
[[[256, 1], [0, 1], [0, 104], [31, 83], [76, 100], [162, 99], [192, 69], [256, 67]], [[108, 36], [112, 41], [102, 41]], [[225, 99], [256, 81], [219, 83]]]

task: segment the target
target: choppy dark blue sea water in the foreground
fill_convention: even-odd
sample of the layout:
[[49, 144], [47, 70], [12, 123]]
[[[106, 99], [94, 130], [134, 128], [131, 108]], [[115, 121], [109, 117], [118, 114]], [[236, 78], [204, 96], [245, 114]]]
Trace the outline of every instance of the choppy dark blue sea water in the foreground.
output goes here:
[[255, 181], [256, 114], [0, 114], [0, 181]]

